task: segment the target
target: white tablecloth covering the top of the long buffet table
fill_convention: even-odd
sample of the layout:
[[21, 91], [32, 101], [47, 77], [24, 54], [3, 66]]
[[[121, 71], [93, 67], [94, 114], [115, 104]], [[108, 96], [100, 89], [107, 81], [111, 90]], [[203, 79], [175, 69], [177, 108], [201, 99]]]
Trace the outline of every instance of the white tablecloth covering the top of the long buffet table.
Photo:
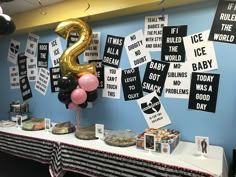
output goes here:
[[[56, 155], [62, 154], [62, 169], [71, 170], [70, 166], [66, 166], [66, 160], [70, 148], [73, 148], [73, 152], [76, 149], [85, 149], [86, 151], [99, 153], [112, 154], [114, 156], [124, 156], [129, 159], [144, 160], [146, 162], [155, 162], [161, 164], [167, 164], [169, 166], [176, 166], [178, 168], [183, 168], [186, 170], [193, 170], [195, 172], [203, 172], [209, 174], [209, 176], [216, 177], [227, 177], [228, 167], [224, 156], [224, 150], [219, 146], [210, 146], [209, 152], [206, 158], [201, 157], [195, 153], [195, 144], [190, 142], [180, 141], [177, 148], [173, 151], [171, 155], [160, 154], [156, 152], [147, 152], [144, 150], [136, 149], [135, 146], [131, 147], [113, 147], [104, 143], [102, 140], [79, 140], [75, 137], [73, 133], [66, 135], [54, 135], [48, 131], [24, 131], [16, 127], [0, 127], [0, 132], [4, 134], [9, 134], [11, 136], [22, 136], [24, 138], [33, 138], [42, 141], [51, 141], [59, 145], [56, 147], [60, 152], [55, 152]], [[1, 135], [0, 135], [1, 136]], [[0, 137], [1, 140], [1, 137]], [[2, 140], [4, 142], [4, 140]], [[0, 144], [0, 150], [1, 150]], [[55, 149], [55, 148], [54, 148]], [[6, 149], [4, 149], [6, 151]], [[55, 151], [55, 150], [54, 150]], [[63, 154], [64, 153], [64, 154]], [[72, 151], [70, 152], [72, 153]], [[54, 155], [55, 155], [54, 154]], [[57, 157], [58, 158], [58, 157]], [[64, 158], [64, 161], [63, 161]], [[128, 162], [128, 161], [127, 161]], [[55, 162], [51, 162], [55, 163]], [[105, 160], [104, 160], [105, 163]], [[60, 163], [59, 163], [60, 165]], [[63, 166], [64, 165], [64, 166]], [[89, 165], [89, 164], [88, 164]], [[83, 170], [74, 169], [74, 171], [82, 172]], [[89, 174], [88, 174], [89, 175]], [[54, 174], [57, 176], [57, 174]], [[92, 175], [91, 175], [92, 176]]]

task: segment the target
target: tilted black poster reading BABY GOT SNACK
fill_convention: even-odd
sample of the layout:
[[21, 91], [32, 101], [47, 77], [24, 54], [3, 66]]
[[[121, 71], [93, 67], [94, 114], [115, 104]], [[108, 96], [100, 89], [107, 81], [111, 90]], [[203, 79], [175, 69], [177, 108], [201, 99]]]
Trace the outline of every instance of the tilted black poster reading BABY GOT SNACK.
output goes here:
[[149, 62], [143, 77], [143, 91], [148, 93], [156, 91], [157, 95], [161, 96], [169, 66], [169, 63], [163, 61], [152, 60]]

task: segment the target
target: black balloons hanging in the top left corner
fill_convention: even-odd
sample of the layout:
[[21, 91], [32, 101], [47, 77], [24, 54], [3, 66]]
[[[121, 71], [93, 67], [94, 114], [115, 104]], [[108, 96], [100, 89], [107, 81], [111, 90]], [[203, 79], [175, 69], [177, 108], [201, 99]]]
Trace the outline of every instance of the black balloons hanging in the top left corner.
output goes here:
[[3, 14], [0, 6], [0, 35], [9, 35], [16, 30], [16, 26], [12, 18]]

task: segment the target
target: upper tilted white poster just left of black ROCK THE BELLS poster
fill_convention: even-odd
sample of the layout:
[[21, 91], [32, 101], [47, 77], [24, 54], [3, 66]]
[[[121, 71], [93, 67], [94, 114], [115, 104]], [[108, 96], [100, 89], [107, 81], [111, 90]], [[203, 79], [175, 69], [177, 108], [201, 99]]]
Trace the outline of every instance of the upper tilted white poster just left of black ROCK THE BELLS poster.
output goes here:
[[33, 33], [28, 34], [27, 44], [25, 48], [25, 56], [33, 58], [36, 55], [38, 42], [39, 36]]

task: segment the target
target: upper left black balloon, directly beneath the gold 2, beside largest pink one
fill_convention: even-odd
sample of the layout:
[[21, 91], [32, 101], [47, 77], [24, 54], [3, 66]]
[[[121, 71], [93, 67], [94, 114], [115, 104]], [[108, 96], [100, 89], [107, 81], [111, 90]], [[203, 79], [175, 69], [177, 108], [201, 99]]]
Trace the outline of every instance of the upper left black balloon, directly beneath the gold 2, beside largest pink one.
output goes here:
[[77, 79], [73, 75], [66, 75], [58, 79], [58, 87], [64, 92], [70, 92], [74, 90], [77, 85]]

